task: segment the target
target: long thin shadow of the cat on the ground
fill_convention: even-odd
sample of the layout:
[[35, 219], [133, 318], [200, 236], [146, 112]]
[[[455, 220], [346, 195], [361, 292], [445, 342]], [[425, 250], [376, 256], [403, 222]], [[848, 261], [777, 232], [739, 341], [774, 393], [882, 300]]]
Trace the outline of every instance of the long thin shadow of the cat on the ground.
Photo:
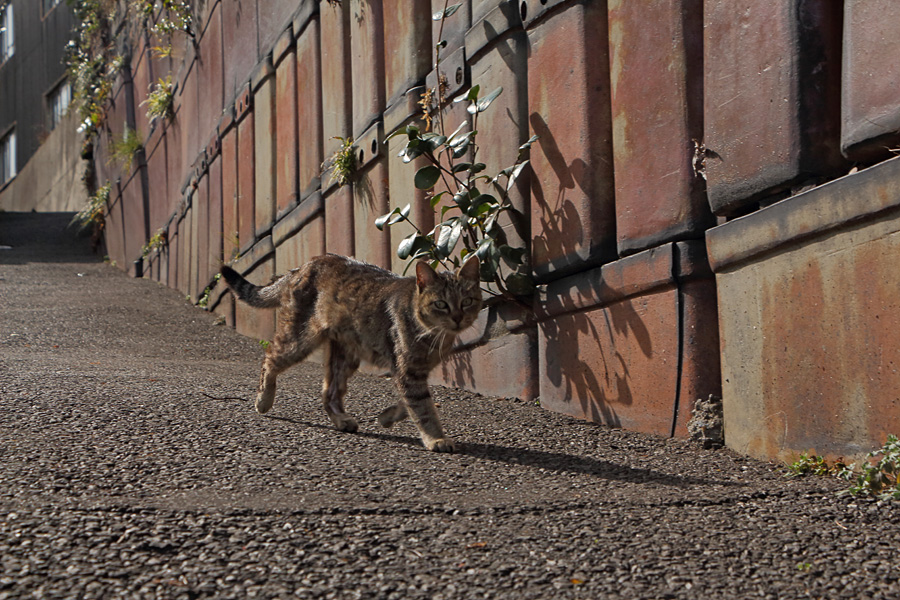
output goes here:
[[[284, 421], [303, 427], [313, 427], [316, 429], [327, 429], [330, 431], [334, 431], [334, 427], [332, 427], [331, 425], [310, 423], [308, 421], [301, 421], [299, 419], [293, 419], [290, 417], [266, 415], [266, 418], [275, 419], [277, 421]], [[398, 435], [394, 433], [381, 433], [362, 430], [348, 435], [357, 435], [361, 437], [395, 442], [399, 444], [406, 444], [408, 446], [414, 446], [420, 449], [422, 448], [422, 442], [419, 440], [418, 436], [414, 437], [407, 435]], [[644, 483], [679, 488], [698, 485], [719, 485], [727, 487], [743, 487], [745, 485], [737, 481], [713, 480], [703, 477], [661, 473], [659, 471], [654, 471], [653, 469], [630, 467], [627, 465], [620, 465], [606, 460], [600, 460], [587, 456], [565, 454], [562, 452], [547, 452], [544, 450], [530, 450], [528, 448], [501, 446], [498, 444], [481, 444], [475, 442], [461, 443], [457, 440], [456, 453], [466, 456], [472, 456], [480, 460], [540, 468], [557, 473], [590, 475], [593, 477], [598, 477], [600, 479], [625, 481], [629, 483]]]

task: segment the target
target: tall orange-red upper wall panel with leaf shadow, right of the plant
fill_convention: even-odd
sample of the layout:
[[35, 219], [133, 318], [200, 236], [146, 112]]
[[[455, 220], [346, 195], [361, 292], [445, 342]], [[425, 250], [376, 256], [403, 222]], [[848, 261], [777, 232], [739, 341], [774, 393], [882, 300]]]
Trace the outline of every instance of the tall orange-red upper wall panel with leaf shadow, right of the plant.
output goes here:
[[574, 2], [528, 27], [532, 263], [550, 280], [616, 255], [607, 13]]

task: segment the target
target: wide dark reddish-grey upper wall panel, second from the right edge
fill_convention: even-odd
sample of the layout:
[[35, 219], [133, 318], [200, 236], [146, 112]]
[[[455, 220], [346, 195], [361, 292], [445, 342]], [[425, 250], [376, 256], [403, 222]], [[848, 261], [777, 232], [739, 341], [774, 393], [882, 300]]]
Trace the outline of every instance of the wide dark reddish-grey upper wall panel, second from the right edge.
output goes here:
[[746, 211], [761, 197], [844, 168], [840, 4], [706, 0], [703, 18], [713, 212]]

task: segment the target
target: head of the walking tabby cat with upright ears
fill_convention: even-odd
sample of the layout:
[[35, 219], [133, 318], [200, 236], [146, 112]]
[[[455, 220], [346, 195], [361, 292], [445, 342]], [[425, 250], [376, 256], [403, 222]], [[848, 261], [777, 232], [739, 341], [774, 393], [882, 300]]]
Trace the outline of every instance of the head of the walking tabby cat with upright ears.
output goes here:
[[438, 273], [427, 262], [419, 262], [416, 288], [416, 312], [422, 324], [458, 334], [475, 322], [481, 310], [478, 257], [472, 256], [455, 275]]

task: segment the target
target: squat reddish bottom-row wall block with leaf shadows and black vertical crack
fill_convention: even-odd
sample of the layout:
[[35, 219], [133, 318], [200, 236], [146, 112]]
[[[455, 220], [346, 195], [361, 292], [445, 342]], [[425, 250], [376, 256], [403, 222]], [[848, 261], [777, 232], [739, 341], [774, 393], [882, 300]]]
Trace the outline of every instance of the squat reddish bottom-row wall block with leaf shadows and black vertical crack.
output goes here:
[[665, 244], [549, 285], [538, 303], [541, 404], [685, 435], [693, 402], [721, 393], [702, 248]]

